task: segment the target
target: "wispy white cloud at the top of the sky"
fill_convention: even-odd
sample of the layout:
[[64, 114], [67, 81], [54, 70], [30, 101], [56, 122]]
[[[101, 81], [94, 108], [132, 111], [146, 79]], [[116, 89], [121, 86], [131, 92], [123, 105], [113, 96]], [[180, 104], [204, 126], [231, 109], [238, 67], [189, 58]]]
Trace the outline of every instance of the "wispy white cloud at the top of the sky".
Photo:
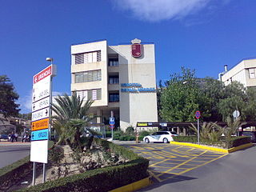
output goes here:
[[[157, 22], [184, 18], [201, 10], [212, 0], [114, 0], [119, 8], [130, 10], [139, 20]], [[227, 0], [222, 0], [227, 1]]]

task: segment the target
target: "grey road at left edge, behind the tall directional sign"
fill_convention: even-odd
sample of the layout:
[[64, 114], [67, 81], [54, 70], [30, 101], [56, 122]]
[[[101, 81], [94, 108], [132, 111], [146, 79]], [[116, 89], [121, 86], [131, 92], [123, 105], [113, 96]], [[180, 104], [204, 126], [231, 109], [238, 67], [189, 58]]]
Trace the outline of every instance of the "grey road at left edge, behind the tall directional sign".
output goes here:
[[0, 168], [17, 162], [30, 154], [30, 143], [18, 144], [7, 142], [0, 143]]

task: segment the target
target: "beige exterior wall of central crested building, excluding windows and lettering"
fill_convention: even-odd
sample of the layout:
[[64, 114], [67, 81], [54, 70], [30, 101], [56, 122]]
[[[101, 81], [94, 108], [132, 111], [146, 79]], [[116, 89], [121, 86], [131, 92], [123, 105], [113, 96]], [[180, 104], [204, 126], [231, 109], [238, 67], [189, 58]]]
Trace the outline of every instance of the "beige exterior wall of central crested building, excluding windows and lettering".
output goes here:
[[[74, 64], [74, 54], [96, 50], [101, 50], [101, 62]], [[102, 89], [102, 100], [94, 101], [91, 112], [108, 119], [113, 110], [122, 130], [135, 127], [137, 122], [158, 121], [156, 92], [121, 91], [122, 83], [139, 83], [143, 88], [156, 90], [154, 44], [142, 44], [140, 58], [131, 55], [131, 45], [107, 46], [106, 41], [71, 46], [71, 54], [71, 91]], [[118, 66], [108, 66], [109, 58], [118, 58]], [[88, 70], [102, 70], [102, 81], [74, 83], [74, 73]], [[118, 75], [119, 84], [109, 84], [110, 75]], [[109, 93], [119, 93], [119, 102], [109, 102]]]

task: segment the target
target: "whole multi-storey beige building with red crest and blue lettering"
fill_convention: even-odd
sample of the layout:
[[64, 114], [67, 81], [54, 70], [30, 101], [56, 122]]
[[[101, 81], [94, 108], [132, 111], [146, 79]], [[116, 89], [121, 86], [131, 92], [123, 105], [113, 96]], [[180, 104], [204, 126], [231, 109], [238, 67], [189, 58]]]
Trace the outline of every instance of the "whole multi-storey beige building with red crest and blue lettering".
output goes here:
[[108, 46], [106, 40], [71, 46], [71, 91], [94, 100], [97, 123], [126, 130], [137, 122], [157, 122], [154, 44]]

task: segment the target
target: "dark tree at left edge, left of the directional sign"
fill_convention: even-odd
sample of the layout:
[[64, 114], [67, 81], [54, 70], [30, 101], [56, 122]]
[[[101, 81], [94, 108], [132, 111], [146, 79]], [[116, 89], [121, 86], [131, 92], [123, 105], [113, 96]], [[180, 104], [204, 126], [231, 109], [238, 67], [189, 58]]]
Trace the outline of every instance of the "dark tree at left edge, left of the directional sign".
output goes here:
[[14, 91], [14, 85], [6, 75], [0, 75], [0, 114], [6, 117], [18, 115], [18, 94]]

